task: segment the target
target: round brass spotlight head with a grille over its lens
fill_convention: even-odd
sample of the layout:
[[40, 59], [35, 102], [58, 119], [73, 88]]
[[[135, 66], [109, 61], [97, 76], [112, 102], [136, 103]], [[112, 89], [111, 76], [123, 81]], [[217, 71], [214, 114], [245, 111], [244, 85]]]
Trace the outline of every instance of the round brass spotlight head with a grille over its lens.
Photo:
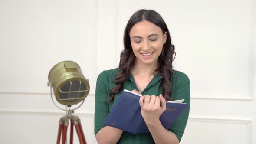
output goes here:
[[56, 100], [62, 105], [75, 105], [83, 101], [90, 91], [88, 79], [85, 79], [80, 66], [72, 61], [54, 65], [48, 80]]

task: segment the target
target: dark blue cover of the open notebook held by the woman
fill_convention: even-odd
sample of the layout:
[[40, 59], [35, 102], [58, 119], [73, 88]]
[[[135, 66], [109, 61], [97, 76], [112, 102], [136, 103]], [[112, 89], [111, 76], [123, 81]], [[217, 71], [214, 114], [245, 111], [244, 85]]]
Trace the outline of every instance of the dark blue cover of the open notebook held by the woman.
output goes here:
[[[139, 95], [124, 90], [109, 112], [104, 124], [132, 134], [149, 133], [141, 115], [139, 99]], [[164, 128], [169, 129], [185, 108], [187, 108], [187, 104], [167, 102], [166, 110], [160, 116], [160, 121]]]

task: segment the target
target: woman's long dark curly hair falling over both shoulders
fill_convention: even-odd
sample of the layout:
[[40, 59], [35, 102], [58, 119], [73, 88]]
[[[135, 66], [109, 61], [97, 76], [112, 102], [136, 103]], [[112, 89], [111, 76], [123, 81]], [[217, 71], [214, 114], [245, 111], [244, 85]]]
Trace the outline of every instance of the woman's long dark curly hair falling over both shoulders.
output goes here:
[[155, 25], [159, 26], [163, 32], [167, 32], [167, 40], [166, 43], [163, 45], [162, 52], [158, 57], [159, 67], [154, 72], [159, 72], [163, 78], [161, 80], [161, 86], [163, 91], [163, 96], [166, 101], [171, 100], [171, 87], [170, 87], [170, 78], [173, 74], [173, 66], [172, 62], [175, 59], [175, 47], [171, 44], [171, 37], [169, 30], [167, 28], [166, 23], [164, 22], [163, 18], [154, 10], [145, 10], [141, 9], [134, 13], [130, 20], [128, 21], [125, 33], [124, 33], [124, 46], [125, 49], [121, 52], [121, 58], [119, 62], [119, 72], [115, 76], [115, 87], [109, 91], [110, 99], [107, 102], [111, 102], [114, 99], [114, 95], [120, 92], [124, 86], [125, 79], [128, 78], [131, 69], [135, 65], [135, 55], [131, 48], [131, 39], [130, 39], [130, 31], [132, 26], [136, 23], [141, 22], [143, 20], [147, 20]]

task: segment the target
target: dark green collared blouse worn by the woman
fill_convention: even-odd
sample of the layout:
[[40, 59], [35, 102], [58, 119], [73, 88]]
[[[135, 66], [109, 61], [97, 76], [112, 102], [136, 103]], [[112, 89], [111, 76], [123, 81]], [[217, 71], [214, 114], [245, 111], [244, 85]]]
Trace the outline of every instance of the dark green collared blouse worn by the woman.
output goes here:
[[[118, 69], [110, 69], [103, 71], [98, 75], [96, 83], [96, 94], [95, 94], [95, 118], [94, 118], [94, 134], [96, 135], [98, 131], [105, 127], [104, 121], [107, 117], [109, 111], [115, 104], [118, 96], [121, 94], [123, 89], [132, 91], [138, 88], [135, 84], [135, 80], [130, 74], [124, 82], [123, 89], [115, 94], [114, 100], [108, 104], [105, 103], [109, 97], [109, 91], [115, 86], [114, 79], [115, 75], [118, 73]], [[163, 77], [158, 73], [153, 77], [151, 82], [142, 92], [142, 95], [160, 95], [162, 94], [162, 87], [160, 85], [161, 79]], [[173, 132], [176, 137], [181, 141], [181, 137], [185, 130], [187, 119], [190, 110], [190, 81], [186, 74], [174, 70], [171, 76], [171, 98], [172, 100], [185, 99], [183, 103], [187, 103], [188, 107], [180, 115], [177, 121], [168, 129], [168, 131]], [[140, 133], [131, 134], [129, 132], [123, 131], [117, 144], [154, 144], [154, 140], [150, 133]]]

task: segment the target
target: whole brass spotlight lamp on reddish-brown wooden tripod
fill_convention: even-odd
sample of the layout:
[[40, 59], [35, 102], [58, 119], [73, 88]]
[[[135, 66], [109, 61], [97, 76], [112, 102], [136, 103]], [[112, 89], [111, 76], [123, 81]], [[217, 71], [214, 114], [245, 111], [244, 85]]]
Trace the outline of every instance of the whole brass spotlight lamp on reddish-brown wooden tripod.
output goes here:
[[[89, 94], [90, 86], [89, 80], [85, 79], [82, 74], [80, 66], [72, 61], [63, 61], [54, 65], [50, 70], [48, 75], [48, 86], [51, 89], [51, 98], [53, 101], [52, 90], [55, 95], [56, 100], [69, 107], [69, 110], [60, 108], [56, 103], [53, 103], [59, 109], [66, 111], [66, 115], [60, 118], [59, 120], [59, 130], [57, 135], [57, 144], [60, 143], [62, 137], [62, 144], [65, 144], [67, 137], [67, 128], [70, 125], [70, 144], [73, 144], [73, 128], [79, 138], [80, 144], [86, 144], [85, 135], [82, 130], [81, 120], [78, 116], [72, 115], [74, 110], [79, 108], [85, 101], [85, 98]], [[76, 105], [79, 102], [81, 104], [74, 109], [70, 109], [72, 105]]]

